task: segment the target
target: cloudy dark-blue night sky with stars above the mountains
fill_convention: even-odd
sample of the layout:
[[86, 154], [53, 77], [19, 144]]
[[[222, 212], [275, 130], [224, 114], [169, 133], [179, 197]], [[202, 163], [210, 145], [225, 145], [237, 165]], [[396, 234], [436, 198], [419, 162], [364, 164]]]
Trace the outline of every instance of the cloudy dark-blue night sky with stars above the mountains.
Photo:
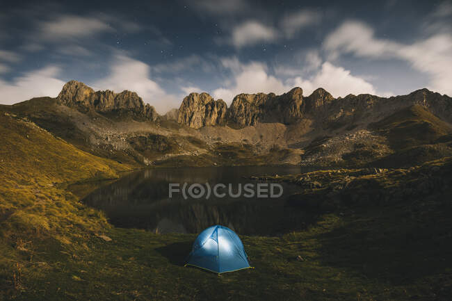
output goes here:
[[[15, 3], [20, 2], [20, 3]], [[452, 1], [0, 0], [0, 103], [71, 79], [159, 113], [189, 92], [452, 95]]]

